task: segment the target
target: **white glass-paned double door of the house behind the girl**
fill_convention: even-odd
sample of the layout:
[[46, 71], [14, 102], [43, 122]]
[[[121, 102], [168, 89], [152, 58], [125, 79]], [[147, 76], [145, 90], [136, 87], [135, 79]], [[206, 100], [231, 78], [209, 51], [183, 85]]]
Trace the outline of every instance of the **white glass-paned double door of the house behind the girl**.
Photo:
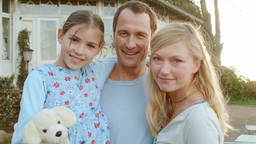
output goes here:
[[33, 49], [29, 69], [54, 63], [59, 57], [60, 44], [57, 41], [58, 18], [24, 18], [23, 29], [27, 28], [30, 48]]

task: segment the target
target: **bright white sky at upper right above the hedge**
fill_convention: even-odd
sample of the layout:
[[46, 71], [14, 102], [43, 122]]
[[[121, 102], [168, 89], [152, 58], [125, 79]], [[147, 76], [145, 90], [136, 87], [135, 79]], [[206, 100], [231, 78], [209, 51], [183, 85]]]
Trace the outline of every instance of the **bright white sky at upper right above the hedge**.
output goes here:
[[[214, 18], [214, 0], [207, 0], [206, 4]], [[255, 6], [255, 0], [218, 0], [223, 42], [221, 65], [235, 67], [238, 74], [251, 81], [256, 81]]]

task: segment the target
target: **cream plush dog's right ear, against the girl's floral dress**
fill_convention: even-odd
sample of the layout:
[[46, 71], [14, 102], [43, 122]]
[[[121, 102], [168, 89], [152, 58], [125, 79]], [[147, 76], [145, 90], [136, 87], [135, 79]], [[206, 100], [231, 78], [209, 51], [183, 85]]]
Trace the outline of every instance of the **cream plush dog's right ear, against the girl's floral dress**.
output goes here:
[[76, 124], [76, 115], [74, 115], [74, 113], [67, 107], [55, 106], [53, 108], [53, 111], [55, 111], [55, 113], [57, 113], [57, 115], [61, 117], [61, 119], [64, 122], [63, 125], [66, 126], [67, 128], [69, 128], [73, 124]]

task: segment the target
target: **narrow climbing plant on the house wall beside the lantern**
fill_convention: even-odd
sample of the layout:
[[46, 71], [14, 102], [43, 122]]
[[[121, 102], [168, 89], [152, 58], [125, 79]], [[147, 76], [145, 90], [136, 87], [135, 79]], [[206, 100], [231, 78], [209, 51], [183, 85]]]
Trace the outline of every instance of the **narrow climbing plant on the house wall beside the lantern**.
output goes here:
[[24, 82], [27, 78], [27, 62], [24, 59], [23, 51], [29, 48], [29, 31], [27, 29], [23, 29], [18, 33], [18, 47], [19, 47], [19, 57], [20, 57], [20, 65], [19, 65], [19, 74], [17, 86], [19, 88], [23, 88]]

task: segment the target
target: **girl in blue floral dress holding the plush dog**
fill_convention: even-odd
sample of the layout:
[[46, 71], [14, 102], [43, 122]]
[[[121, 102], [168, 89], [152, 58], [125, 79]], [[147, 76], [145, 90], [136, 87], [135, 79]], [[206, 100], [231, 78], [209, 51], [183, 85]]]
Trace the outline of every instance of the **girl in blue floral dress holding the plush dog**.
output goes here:
[[76, 115], [76, 124], [68, 130], [71, 143], [109, 143], [109, 128], [99, 103], [102, 88], [91, 63], [104, 45], [102, 19], [91, 11], [78, 10], [68, 17], [57, 38], [59, 59], [27, 76], [12, 143], [22, 143], [23, 128], [35, 113], [54, 106], [66, 106]]

